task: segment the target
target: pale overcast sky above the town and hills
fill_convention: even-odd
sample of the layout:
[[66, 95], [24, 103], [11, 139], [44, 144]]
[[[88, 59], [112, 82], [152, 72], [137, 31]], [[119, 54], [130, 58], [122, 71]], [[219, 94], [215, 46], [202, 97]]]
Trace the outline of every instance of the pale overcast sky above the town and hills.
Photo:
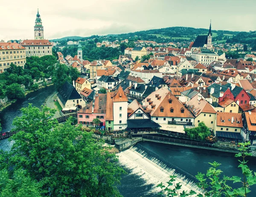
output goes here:
[[5, 0], [0, 40], [33, 39], [39, 14], [45, 39], [119, 34], [172, 26], [256, 30], [256, 0]]

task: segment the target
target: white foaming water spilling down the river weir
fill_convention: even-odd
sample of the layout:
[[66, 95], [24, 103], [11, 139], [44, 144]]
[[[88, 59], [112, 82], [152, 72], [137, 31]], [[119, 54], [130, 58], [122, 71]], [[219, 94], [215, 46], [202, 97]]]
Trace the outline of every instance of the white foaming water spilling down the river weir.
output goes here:
[[[118, 153], [118, 156], [119, 162], [122, 166], [130, 169], [132, 174], [140, 176], [145, 180], [145, 184], [154, 185], [150, 193], [159, 192], [161, 189], [156, 186], [161, 182], [166, 185], [166, 182], [170, 180], [170, 175], [177, 176], [175, 178], [175, 183], [181, 183], [182, 187], [179, 192], [182, 192], [183, 190], [188, 192], [193, 190], [197, 193], [201, 193], [195, 183], [189, 181], [185, 176], [175, 173], [175, 169], [167, 167], [166, 164], [160, 160], [148, 156], [145, 151], [140, 151], [139, 153], [138, 148], [133, 147], [128, 150], [121, 151]], [[194, 196], [195, 195], [193, 195], [193, 197]]]

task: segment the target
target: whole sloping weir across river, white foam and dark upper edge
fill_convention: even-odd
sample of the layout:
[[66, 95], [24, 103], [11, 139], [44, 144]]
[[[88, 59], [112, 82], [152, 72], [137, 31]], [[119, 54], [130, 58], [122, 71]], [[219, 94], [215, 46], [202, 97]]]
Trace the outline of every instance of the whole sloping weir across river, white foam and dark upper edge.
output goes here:
[[175, 183], [181, 183], [180, 192], [193, 190], [198, 194], [201, 193], [196, 186], [197, 179], [192, 174], [166, 161], [163, 157], [158, 156], [140, 144], [121, 151], [118, 155], [122, 166], [131, 169], [133, 174], [140, 176], [145, 180], [146, 185], [154, 185], [150, 193], [159, 192], [160, 188], [156, 186], [161, 182], [167, 185], [166, 182], [169, 181], [170, 175], [177, 176]]

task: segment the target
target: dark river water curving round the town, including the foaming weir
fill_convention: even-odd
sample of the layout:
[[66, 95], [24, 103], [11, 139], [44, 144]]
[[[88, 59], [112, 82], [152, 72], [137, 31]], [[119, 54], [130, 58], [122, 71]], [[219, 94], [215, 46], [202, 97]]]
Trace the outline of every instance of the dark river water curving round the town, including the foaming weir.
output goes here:
[[[4, 109], [0, 113], [3, 131], [9, 131], [13, 128], [12, 120], [16, 116], [21, 116], [20, 108], [27, 107], [29, 103], [40, 107], [54, 91], [53, 86], [39, 89], [28, 94], [26, 99], [13, 103]], [[3, 150], [9, 150], [11, 146], [12, 142], [8, 140], [0, 141], [0, 148]], [[120, 164], [127, 171], [127, 174], [122, 176], [122, 184], [118, 186], [124, 197], [155, 197], [159, 191], [156, 185], [160, 182], [167, 182], [168, 177], [172, 174], [177, 175], [177, 180], [183, 184], [183, 189], [197, 190], [198, 188], [189, 174], [195, 176], [198, 171], [206, 173], [210, 167], [209, 162], [212, 163], [213, 161], [222, 164], [220, 168], [225, 175], [241, 175], [241, 170], [237, 168], [239, 163], [234, 157], [234, 153], [142, 142], [138, 146], [120, 152], [118, 156]], [[256, 171], [256, 157], [250, 157], [249, 160], [249, 167]], [[186, 172], [175, 168], [175, 166]], [[256, 187], [252, 187], [251, 190], [252, 192], [249, 193], [248, 197], [255, 197]]]

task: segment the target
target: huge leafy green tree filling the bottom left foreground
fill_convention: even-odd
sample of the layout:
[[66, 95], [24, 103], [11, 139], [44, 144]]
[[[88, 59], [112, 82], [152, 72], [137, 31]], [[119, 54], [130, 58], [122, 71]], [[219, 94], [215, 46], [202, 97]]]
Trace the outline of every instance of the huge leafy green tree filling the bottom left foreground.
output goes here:
[[[29, 104], [21, 111], [23, 115], [13, 122], [13, 131], [19, 132], [11, 137], [15, 141], [11, 151], [0, 152], [1, 168], [6, 166], [9, 174], [25, 169], [31, 185], [27, 188], [39, 185], [44, 196], [121, 196], [116, 185], [124, 171], [104, 141], [81, 131], [81, 126], [72, 126], [70, 120], [58, 124], [49, 119], [55, 109]], [[1, 159], [3, 155], [8, 161]]]

